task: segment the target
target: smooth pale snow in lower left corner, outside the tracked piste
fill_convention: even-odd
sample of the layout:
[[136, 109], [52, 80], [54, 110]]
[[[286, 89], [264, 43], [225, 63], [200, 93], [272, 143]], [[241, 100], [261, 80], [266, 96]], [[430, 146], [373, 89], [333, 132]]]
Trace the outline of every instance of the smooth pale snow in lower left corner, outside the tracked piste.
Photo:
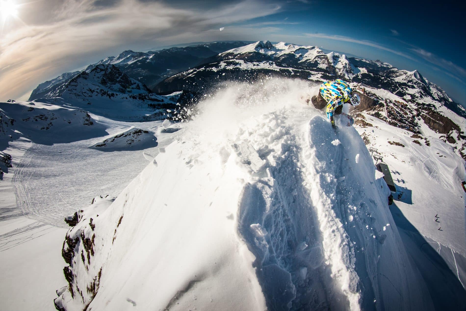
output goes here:
[[0, 309], [55, 310], [55, 290], [65, 283], [61, 247], [67, 229], [22, 216], [12, 182], [30, 142], [20, 138], [4, 152], [13, 167], [0, 177]]

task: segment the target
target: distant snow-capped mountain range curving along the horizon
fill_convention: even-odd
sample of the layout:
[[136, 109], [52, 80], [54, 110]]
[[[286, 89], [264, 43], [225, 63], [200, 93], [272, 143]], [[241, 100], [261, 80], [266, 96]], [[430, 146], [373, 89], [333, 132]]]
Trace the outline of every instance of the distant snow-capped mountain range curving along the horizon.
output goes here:
[[[152, 105], [150, 107], [159, 109], [158, 117], [162, 117], [165, 104], [195, 103], [219, 83], [266, 77], [299, 78], [314, 83], [342, 78], [354, 86], [365, 86], [365, 104], [358, 111], [370, 111], [390, 124], [414, 133], [422, 132], [423, 124], [426, 124], [442, 134], [442, 139], [454, 144], [466, 159], [466, 110], [444, 90], [417, 70], [400, 70], [378, 60], [325, 53], [316, 46], [236, 41], [147, 53], [128, 50], [89, 65], [83, 71], [65, 73], [41, 83], [32, 92], [30, 100], [60, 97], [73, 104], [95, 105], [97, 98], [118, 99], [126, 104], [130, 99], [138, 101], [137, 106]], [[375, 90], [384, 90], [386, 94]], [[167, 100], [153, 91], [177, 95]], [[390, 105], [392, 109], [389, 109]], [[404, 114], [400, 115], [399, 111]]]

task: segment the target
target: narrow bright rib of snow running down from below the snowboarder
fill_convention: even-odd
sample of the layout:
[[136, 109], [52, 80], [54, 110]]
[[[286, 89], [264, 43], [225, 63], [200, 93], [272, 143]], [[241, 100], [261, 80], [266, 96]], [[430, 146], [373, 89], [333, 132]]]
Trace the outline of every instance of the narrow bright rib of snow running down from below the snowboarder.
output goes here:
[[317, 211], [325, 260], [336, 288], [346, 298], [346, 309], [360, 310], [354, 249], [344, 228], [345, 204], [339, 202], [346, 188], [343, 166], [347, 163], [344, 163], [342, 151], [345, 146], [331, 144], [341, 137], [322, 117], [312, 118], [304, 133], [302, 162], [313, 165], [305, 165], [303, 174], [310, 201]]

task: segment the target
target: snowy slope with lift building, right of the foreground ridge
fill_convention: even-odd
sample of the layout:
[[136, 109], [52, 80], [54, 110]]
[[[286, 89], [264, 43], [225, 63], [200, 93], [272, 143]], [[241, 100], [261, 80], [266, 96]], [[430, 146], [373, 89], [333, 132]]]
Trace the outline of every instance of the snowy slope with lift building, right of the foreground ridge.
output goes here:
[[391, 212], [406, 249], [425, 279], [436, 284], [429, 290], [442, 293], [435, 295], [443, 298], [437, 309], [452, 310], [466, 285], [464, 161], [435, 136], [413, 135], [363, 116], [370, 125], [357, 130], [375, 148], [373, 155], [389, 165], [398, 190]]

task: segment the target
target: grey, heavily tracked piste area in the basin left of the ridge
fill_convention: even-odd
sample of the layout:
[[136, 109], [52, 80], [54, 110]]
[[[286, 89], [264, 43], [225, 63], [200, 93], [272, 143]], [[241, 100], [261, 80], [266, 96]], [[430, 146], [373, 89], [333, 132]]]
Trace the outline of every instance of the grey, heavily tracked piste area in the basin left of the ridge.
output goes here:
[[[137, 125], [100, 119], [108, 123], [111, 132], [121, 131], [126, 124]], [[158, 126], [161, 121], [148, 122], [144, 126], [147, 124]], [[98, 195], [117, 196], [147, 165], [142, 150], [103, 152], [89, 148], [101, 140], [92, 138], [55, 145], [29, 142], [30, 147], [15, 167], [13, 176], [21, 212], [29, 218], [69, 228], [63, 221], [65, 216], [87, 207]], [[158, 148], [170, 141], [161, 141], [157, 147], [145, 151], [156, 155]]]

